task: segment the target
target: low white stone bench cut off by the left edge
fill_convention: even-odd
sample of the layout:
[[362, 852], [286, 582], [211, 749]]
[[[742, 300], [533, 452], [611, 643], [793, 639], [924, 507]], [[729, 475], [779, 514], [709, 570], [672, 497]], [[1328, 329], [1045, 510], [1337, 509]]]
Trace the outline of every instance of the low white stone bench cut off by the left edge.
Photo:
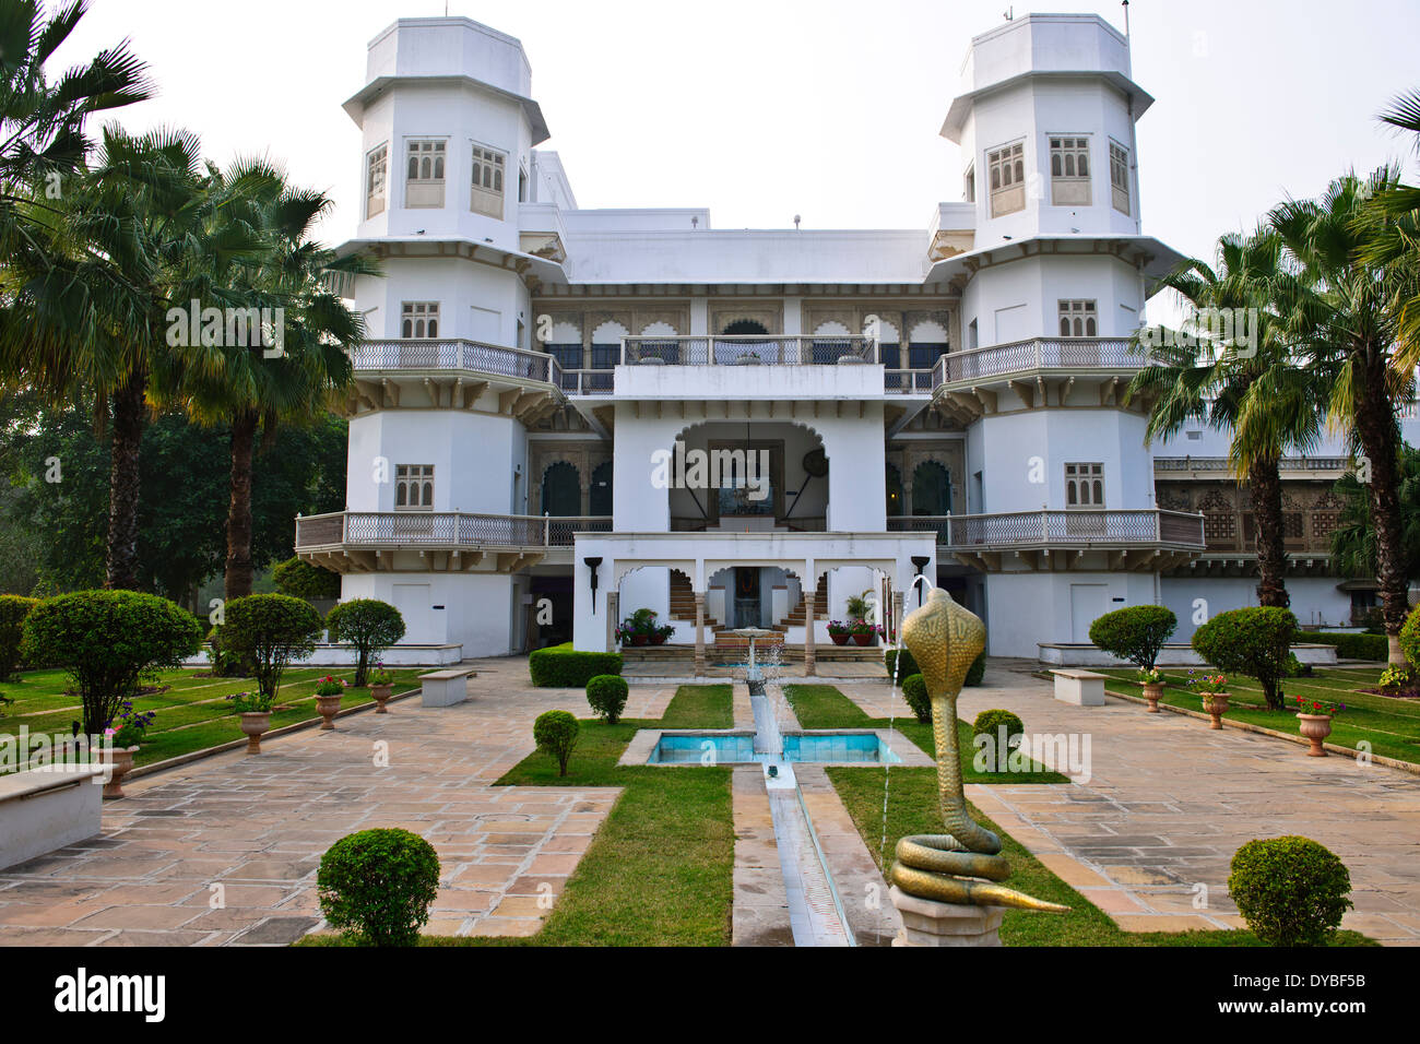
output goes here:
[[0, 776], [0, 869], [104, 831], [104, 766], [45, 766]]

